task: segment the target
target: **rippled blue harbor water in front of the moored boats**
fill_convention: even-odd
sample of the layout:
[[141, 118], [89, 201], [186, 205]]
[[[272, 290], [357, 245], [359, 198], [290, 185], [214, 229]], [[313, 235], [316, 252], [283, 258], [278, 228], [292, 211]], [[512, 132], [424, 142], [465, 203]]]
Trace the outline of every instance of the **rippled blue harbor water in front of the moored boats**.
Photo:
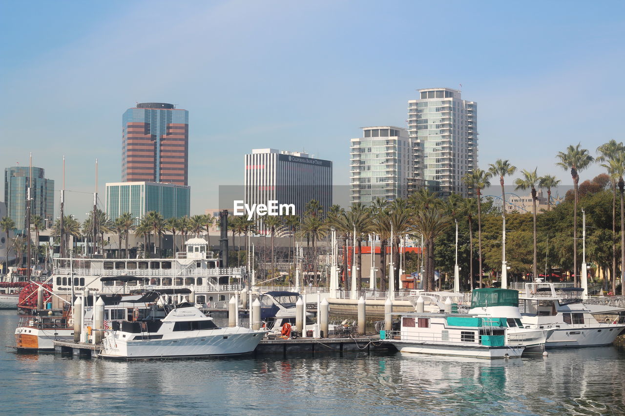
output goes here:
[[[2, 346], [17, 314], [0, 311]], [[625, 349], [108, 362], [0, 351], [0, 414], [625, 414]]]

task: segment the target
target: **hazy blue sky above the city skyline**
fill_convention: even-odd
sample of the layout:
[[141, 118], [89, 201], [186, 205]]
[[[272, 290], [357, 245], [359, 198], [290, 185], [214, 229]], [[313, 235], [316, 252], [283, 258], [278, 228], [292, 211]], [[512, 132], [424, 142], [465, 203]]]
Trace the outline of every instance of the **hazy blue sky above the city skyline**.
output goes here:
[[[436, 3], [436, 4], [435, 4]], [[349, 183], [358, 127], [405, 126], [416, 89], [478, 103], [479, 165], [557, 174], [555, 155], [621, 141], [624, 2], [1, 1], [0, 167], [93, 192], [121, 177], [121, 115], [189, 110], [192, 214], [241, 184], [243, 154], [305, 149]], [[601, 171], [581, 172], [587, 179]], [[79, 218], [91, 197], [68, 195]], [[58, 210], [58, 204], [57, 210]]]

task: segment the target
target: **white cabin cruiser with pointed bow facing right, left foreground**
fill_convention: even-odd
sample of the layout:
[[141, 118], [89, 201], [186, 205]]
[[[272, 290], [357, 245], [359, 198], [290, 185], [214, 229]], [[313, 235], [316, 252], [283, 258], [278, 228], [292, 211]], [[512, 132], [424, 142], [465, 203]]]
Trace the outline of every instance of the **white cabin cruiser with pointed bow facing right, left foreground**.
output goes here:
[[244, 327], [219, 328], [193, 305], [183, 305], [162, 320], [113, 324], [113, 329], [105, 331], [99, 356], [151, 359], [248, 354], [266, 333]]

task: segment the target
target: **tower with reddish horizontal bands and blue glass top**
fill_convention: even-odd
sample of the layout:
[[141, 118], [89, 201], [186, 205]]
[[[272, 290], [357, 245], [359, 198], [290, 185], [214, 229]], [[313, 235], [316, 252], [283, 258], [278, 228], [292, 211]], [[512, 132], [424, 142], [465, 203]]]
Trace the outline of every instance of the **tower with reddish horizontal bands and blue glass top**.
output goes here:
[[189, 181], [189, 112], [143, 102], [122, 117], [122, 181]]

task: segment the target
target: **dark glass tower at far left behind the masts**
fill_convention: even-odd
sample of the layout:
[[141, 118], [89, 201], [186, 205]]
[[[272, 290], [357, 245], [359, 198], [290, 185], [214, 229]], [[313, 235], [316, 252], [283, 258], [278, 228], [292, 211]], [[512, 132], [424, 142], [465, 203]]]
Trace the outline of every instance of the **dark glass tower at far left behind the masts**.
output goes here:
[[[32, 177], [30, 172], [32, 169]], [[4, 201], [16, 232], [26, 231], [26, 196], [31, 187], [31, 215], [40, 215], [52, 226], [54, 218], [54, 181], [44, 177], [41, 167], [14, 166], [4, 169]], [[45, 225], [45, 224], [44, 224]]]

